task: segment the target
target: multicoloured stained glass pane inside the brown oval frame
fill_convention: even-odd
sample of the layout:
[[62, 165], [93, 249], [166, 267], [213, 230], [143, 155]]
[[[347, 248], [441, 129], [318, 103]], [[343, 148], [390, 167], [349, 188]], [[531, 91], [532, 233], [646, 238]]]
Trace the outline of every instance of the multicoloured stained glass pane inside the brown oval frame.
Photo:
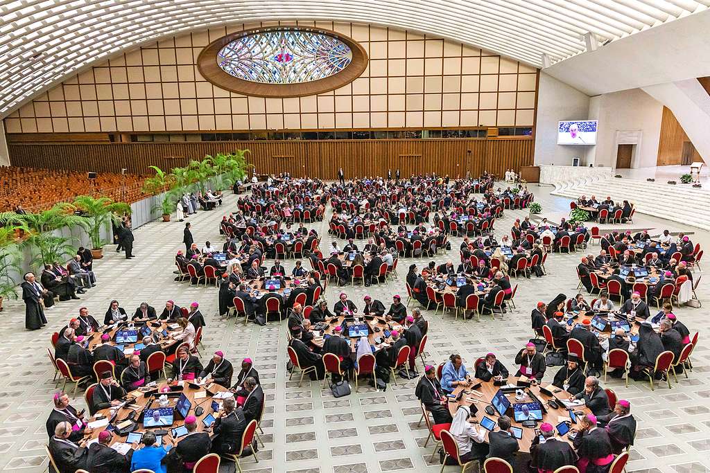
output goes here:
[[352, 51], [338, 38], [302, 30], [254, 33], [217, 53], [227, 74], [262, 84], [298, 84], [325, 79], [345, 69]]

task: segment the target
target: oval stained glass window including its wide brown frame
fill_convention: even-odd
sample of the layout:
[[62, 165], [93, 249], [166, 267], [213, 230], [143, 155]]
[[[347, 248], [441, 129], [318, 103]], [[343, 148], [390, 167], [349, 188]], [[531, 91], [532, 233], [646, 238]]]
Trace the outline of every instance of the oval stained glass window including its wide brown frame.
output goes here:
[[212, 84], [239, 94], [295, 97], [322, 94], [357, 79], [364, 48], [319, 28], [256, 28], [231, 33], [200, 52], [197, 68]]

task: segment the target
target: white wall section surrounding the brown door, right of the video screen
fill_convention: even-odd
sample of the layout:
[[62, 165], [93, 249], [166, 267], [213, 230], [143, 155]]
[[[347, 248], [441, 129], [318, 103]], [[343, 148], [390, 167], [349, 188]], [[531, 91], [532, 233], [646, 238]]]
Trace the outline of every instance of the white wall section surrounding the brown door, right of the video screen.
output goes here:
[[586, 164], [616, 167], [619, 143], [636, 144], [631, 167], [655, 166], [663, 105], [641, 89], [594, 96], [589, 120], [599, 120], [596, 146], [586, 153]]

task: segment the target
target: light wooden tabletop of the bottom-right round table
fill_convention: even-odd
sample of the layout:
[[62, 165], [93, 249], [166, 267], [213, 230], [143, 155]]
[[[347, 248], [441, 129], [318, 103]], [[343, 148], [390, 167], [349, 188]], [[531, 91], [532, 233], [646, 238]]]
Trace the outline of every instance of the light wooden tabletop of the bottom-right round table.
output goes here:
[[[509, 384], [517, 384], [518, 382], [518, 377], [508, 377], [508, 383]], [[491, 406], [491, 401], [493, 401], [493, 397], [496, 396], [496, 393], [498, 392], [498, 389], [501, 389], [503, 386], [494, 386], [493, 381], [490, 382], [484, 382], [481, 381], [480, 379], [472, 378], [473, 385], [476, 386], [476, 384], [481, 384], [477, 389], [471, 389], [471, 387], [464, 387], [464, 386], [457, 386], [456, 389], [454, 389], [454, 396], [459, 396], [461, 391], [464, 391], [463, 396], [461, 396], [460, 401], [456, 401], [455, 399], [449, 399], [448, 407], [449, 407], [449, 412], [451, 413], [452, 416], [456, 415], [456, 411], [459, 408], [459, 406], [474, 406], [478, 411], [475, 414], [471, 415], [471, 418], [469, 421], [471, 423], [480, 423], [481, 420], [483, 420], [484, 417], [487, 417], [491, 419], [492, 421], [496, 421], [496, 429], [498, 428], [497, 424], [497, 418], [498, 418], [498, 413], [494, 411], [493, 415], [488, 415], [485, 411], [486, 406]], [[530, 445], [532, 445], [532, 440], [535, 438], [535, 430], [540, 428], [540, 423], [542, 422], [547, 422], [551, 423], [553, 427], [555, 427], [557, 424], [562, 422], [563, 420], [566, 420], [567, 422], [571, 422], [572, 419], [569, 417], [569, 410], [564, 407], [560, 399], [567, 400], [569, 399], [570, 394], [567, 391], [563, 391], [555, 386], [552, 386], [552, 384], [547, 384], [545, 383], [545, 389], [548, 389], [549, 391], [552, 392], [552, 396], [548, 396], [547, 394], [543, 394], [540, 391], [540, 385], [535, 385], [535, 386], [530, 386], [529, 388], [523, 388], [521, 386], [518, 386], [518, 389], [525, 389], [525, 394], [528, 394], [528, 389], [532, 391], [532, 394], [535, 394], [537, 396], [537, 399], [540, 400], [542, 404], [545, 404], [543, 406], [544, 408], [547, 409], [547, 413], [543, 410], [542, 412], [542, 421], [537, 421], [536, 427], [535, 428], [528, 428], [528, 427], [523, 427], [522, 423], [515, 421], [515, 418], [513, 416], [510, 416], [510, 421], [511, 425], [513, 427], [518, 427], [523, 429], [523, 436], [522, 438], [518, 439], [518, 445], [520, 445], [520, 452], [523, 453], [530, 453]], [[475, 393], [475, 394], [474, 394]], [[515, 392], [511, 394], [506, 394], [506, 398], [508, 401], [510, 401], [511, 408], [513, 404], [519, 404], [519, 403], [525, 403], [525, 402], [534, 402], [535, 399], [527, 399], [523, 401], [515, 401]], [[559, 408], [552, 408], [547, 404], [547, 401], [550, 401], [550, 399], [557, 399], [557, 404], [559, 405]], [[574, 407], [574, 412], [581, 412], [581, 416], [584, 416], [586, 413], [591, 413], [591, 411], [586, 408], [586, 406], [581, 405], [581, 406], [575, 406]], [[580, 417], [580, 416], [577, 416]], [[577, 423], [579, 424], [579, 419], [577, 419]], [[575, 424], [572, 424], [574, 427]], [[482, 428], [482, 427], [481, 427]], [[484, 429], [486, 432], [486, 442], [488, 442], [488, 430]], [[561, 438], [561, 440], [566, 440], [567, 442], [571, 443], [571, 440], [567, 438], [567, 435], [564, 435], [564, 437]]]

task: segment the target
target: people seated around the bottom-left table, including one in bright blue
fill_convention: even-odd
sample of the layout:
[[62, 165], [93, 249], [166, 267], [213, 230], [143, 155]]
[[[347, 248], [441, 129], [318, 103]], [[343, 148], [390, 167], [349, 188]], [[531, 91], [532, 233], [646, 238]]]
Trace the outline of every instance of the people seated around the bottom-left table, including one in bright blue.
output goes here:
[[[126, 454], [111, 448], [116, 441], [115, 434], [102, 430], [95, 435], [88, 426], [89, 415], [111, 406], [119, 406], [126, 391], [112, 377], [111, 372], [101, 374], [99, 384], [94, 386], [94, 394], [89, 405], [89, 415], [84, 410], [70, 405], [67, 394], [58, 392], [54, 396], [54, 408], [46, 423], [49, 436], [48, 448], [58, 473], [73, 473], [85, 469], [92, 473], [128, 473], [137, 469], [151, 469], [153, 472], [191, 472], [195, 464], [210, 452], [217, 454], [236, 454], [241, 449], [241, 437], [247, 425], [261, 421], [264, 393], [259, 383], [258, 372], [251, 359], [241, 362], [241, 371], [232, 384], [234, 368], [217, 351], [206, 367], [202, 367], [197, 357], [186, 350], [180, 352], [180, 360], [173, 365], [173, 379], [211, 379], [228, 389], [232, 395], [224, 398], [222, 408], [214, 414], [216, 421], [210, 428], [198, 430], [200, 423], [193, 415], [185, 418], [188, 434], [180, 439], [163, 435], [163, 443], [156, 442], [155, 434], [148, 430], [143, 433], [141, 443], [133, 443]], [[150, 379], [148, 379], [150, 381]], [[96, 443], [88, 445], [90, 438], [97, 438]], [[120, 440], [119, 440], [120, 441]], [[241, 456], [251, 455], [256, 450], [256, 441], [251, 447], [241, 452]]]

